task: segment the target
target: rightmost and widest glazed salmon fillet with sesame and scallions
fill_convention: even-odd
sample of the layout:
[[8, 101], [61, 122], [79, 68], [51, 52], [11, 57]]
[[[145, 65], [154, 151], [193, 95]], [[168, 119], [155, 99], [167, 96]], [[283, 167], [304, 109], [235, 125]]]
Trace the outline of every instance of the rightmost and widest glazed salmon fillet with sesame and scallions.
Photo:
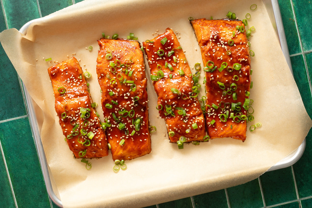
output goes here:
[[251, 66], [245, 25], [240, 20], [190, 20], [206, 73], [206, 128], [211, 139], [245, 141]]

